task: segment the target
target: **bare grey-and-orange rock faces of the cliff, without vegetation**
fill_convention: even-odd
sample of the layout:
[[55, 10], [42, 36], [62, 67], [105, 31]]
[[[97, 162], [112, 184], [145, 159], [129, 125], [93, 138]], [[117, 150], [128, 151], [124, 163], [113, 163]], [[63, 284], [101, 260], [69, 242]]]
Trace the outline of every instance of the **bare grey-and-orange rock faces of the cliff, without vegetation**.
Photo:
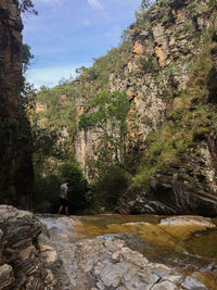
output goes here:
[[[129, 135], [135, 147], [142, 140], [140, 149], [146, 136], [164, 123], [168, 103], [186, 88], [189, 64], [200, 52], [200, 38], [212, 23], [210, 10], [194, 17], [189, 9], [191, 2], [159, 1], [159, 5], [152, 7], [141, 23], [130, 26], [130, 58], [122, 65], [122, 72], [108, 71], [110, 90], [128, 94]], [[87, 83], [88, 79], [82, 86], [88, 87]], [[81, 92], [75, 99], [77, 115], [84, 113], [87, 98]], [[88, 156], [94, 154], [97, 139], [94, 130], [77, 134], [76, 155], [84, 168]]]

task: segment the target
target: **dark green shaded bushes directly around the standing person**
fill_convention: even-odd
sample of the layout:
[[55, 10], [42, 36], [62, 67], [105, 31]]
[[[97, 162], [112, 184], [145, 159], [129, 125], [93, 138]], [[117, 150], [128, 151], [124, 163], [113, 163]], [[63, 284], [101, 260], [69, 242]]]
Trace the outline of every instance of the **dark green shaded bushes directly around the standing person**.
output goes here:
[[[48, 166], [46, 174], [35, 173], [34, 210], [36, 212], [58, 212], [60, 186], [65, 180], [69, 181], [69, 212], [73, 214], [80, 213], [88, 207], [86, 199], [87, 181], [80, 167], [73, 159], [62, 160], [61, 162], [61, 165], [55, 166], [55, 171]], [[48, 163], [51, 163], [51, 161]]]

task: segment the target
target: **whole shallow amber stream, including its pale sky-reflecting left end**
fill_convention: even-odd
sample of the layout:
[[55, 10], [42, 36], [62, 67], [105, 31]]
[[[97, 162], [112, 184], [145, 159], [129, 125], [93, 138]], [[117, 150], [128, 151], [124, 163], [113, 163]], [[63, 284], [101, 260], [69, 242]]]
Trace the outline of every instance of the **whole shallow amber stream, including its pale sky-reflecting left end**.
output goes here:
[[196, 273], [208, 289], [216, 290], [216, 220], [203, 223], [202, 218], [200, 223], [161, 223], [165, 218], [154, 215], [40, 217], [53, 230], [54, 238], [60, 234], [61, 239], [67, 242], [104, 234], [137, 234], [144, 242], [136, 244], [133, 250], [143, 253], [149, 261], [166, 264], [187, 275]]

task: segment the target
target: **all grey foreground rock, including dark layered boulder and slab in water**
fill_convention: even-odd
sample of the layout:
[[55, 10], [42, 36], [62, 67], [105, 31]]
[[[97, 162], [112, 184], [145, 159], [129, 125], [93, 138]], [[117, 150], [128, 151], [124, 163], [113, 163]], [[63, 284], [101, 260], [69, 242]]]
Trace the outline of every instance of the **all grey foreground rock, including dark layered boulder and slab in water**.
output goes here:
[[[145, 251], [151, 245], [135, 234], [107, 234], [73, 242], [79, 222], [76, 217], [40, 219], [43, 225], [29, 212], [0, 205], [0, 289], [206, 290], [207, 277], [216, 287], [215, 263], [209, 269], [180, 272], [150, 262]], [[182, 220], [214, 227], [212, 220], [202, 217], [170, 218], [162, 224], [176, 226]], [[136, 249], [142, 249], [144, 255]]]

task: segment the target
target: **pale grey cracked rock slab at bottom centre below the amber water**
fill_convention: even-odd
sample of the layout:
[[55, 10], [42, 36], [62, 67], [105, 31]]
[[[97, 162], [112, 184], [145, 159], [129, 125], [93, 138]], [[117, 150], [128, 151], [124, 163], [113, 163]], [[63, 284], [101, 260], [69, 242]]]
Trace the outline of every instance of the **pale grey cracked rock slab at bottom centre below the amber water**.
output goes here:
[[[64, 254], [66, 249], [61, 251]], [[105, 240], [104, 237], [72, 245], [71, 261], [75, 289], [98, 289], [100, 285], [100, 289], [151, 289], [163, 281], [164, 276], [173, 276], [170, 268], [150, 263], [142, 254], [126, 248], [123, 240]]]

